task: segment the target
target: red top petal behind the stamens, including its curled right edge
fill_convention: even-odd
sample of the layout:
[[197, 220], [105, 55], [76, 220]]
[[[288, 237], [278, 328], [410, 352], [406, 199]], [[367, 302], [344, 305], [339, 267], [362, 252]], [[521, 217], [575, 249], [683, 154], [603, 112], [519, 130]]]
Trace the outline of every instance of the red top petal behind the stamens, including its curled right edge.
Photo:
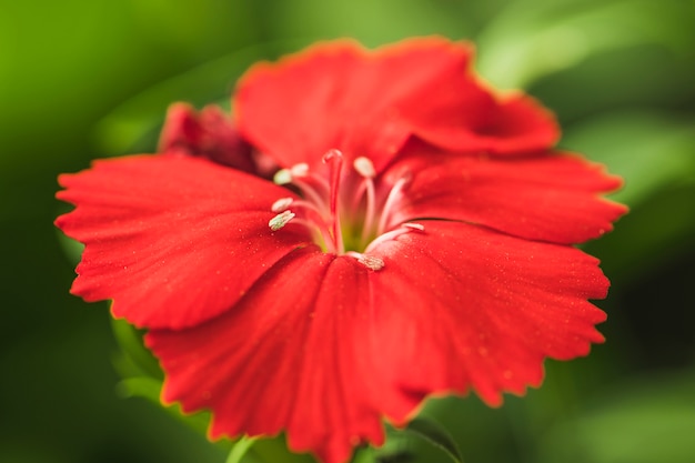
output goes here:
[[413, 134], [466, 152], [551, 148], [560, 138], [553, 114], [522, 93], [493, 94], [471, 71], [472, 57], [472, 46], [441, 38], [374, 51], [319, 44], [244, 76], [234, 103], [240, 130], [284, 167], [339, 149], [381, 170]]

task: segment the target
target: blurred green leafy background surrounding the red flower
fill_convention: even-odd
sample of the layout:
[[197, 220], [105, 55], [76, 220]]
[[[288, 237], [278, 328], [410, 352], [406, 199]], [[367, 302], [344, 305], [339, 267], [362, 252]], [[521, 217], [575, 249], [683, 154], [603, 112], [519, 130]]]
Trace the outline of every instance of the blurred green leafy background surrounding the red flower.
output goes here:
[[[124, 397], [108, 305], [68, 293], [58, 173], [151, 151], [170, 102], [224, 101], [258, 59], [433, 33], [474, 40], [487, 80], [555, 111], [561, 145], [623, 175], [614, 199], [632, 212], [585, 246], [613, 281], [605, 344], [547, 362], [544, 385], [501, 409], [472, 396], [425, 413], [466, 463], [695, 461], [692, 0], [0, 0], [0, 462], [226, 459]], [[396, 439], [380, 461], [447, 461], [421, 444]]]

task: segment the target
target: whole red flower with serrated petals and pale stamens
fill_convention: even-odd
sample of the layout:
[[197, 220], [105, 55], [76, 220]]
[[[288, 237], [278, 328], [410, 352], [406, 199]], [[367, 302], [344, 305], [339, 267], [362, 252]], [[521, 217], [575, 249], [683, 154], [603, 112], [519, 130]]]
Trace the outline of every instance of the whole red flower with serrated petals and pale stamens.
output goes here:
[[60, 177], [72, 292], [149, 330], [163, 401], [210, 409], [212, 437], [284, 430], [326, 463], [429, 394], [537, 386], [603, 341], [608, 282], [572, 244], [625, 211], [600, 198], [620, 180], [471, 57], [323, 43], [251, 69], [234, 122], [173, 107], [163, 154]]

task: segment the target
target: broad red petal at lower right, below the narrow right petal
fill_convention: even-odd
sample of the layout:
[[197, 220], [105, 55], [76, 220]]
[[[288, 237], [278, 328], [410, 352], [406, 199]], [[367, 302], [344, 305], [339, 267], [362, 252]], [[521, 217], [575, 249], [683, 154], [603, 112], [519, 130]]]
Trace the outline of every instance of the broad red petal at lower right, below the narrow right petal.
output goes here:
[[[379, 371], [412, 394], [473, 387], [491, 405], [543, 378], [543, 360], [568, 360], [602, 342], [598, 261], [557, 244], [484, 228], [422, 221], [374, 251], [370, 334]], [[402, 419], [403, 416], [394, 416]]]

